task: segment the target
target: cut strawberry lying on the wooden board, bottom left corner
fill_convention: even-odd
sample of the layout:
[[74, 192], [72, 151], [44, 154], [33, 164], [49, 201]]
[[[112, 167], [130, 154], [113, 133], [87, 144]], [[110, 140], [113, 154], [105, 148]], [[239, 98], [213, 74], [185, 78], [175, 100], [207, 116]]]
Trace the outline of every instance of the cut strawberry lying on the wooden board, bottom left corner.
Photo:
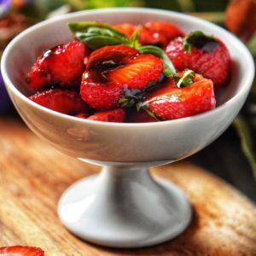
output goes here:
[[44, 251], [38, 247], [1, 247], [0, 256], [44, 256]]

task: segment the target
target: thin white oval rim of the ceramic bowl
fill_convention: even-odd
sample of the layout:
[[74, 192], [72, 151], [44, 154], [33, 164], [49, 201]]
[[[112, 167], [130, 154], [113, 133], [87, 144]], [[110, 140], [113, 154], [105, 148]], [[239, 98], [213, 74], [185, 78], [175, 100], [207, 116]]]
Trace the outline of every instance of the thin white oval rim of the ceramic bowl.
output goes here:
[[[13, 47], [15, 47], [15, 44], [17, 44], [19, 42], [20, 38], [24, 38], [27, 33], [33, 32], [33, 31], [37, 30], [38, 28], [40, 28], [42, 26], [49, 26], [51, 23], [53, 23], [55, 21], [67, 20], [68, 18], [74, 18], [74, 17], [80, 16], [80, 15], [87, 15], [87, 14], [100, 15], [100, 14], [105, 14], [105, 13], [108, 13], [108, 12], [172, 15], [172, 17], [182, 18], [182, 19], [187, 20], [187, 21], [192, 20], [194, 22], [204, 22], [205, 24], [207, 24], [207, 26], [211, 26], [211, 27], [219, 30], [220, 32], [224, 32], [230, 38], [230, 40], [232, 40], [232, 42], [235, 42], [235, 44], [239, 45], [240, 50], [244, 54], [243, 58], [247, 58], [247, 76], [245, 77], [245, 81], [243, 81], [243, 84], [245, 84], [245, 86], [243, 86], [241, 88], [241, 90], [239, 90], [236, 93], [236, 95], [233, 96], [232, 98], [230, 98], [230, 100], [228, 100], [227, 102], [224, 102], [223, 104], [221, 104], [217, 108], [214, 108], [214, 109], [209, 110], [209, 111], [204, 112], [204, 113], [198, 113], [198, 114], [195, 114], [193, 116], [184, 117], [184, 118], [181, 118], [181, 119], [172, 119], [172, 120], [165, 120], [165, 121], [160, 121], [160, 122], [112, 123], [112, 122], [95, 121], [95, 120], [90, 120], [90, 119], [81, 119], [81, 118], [77, 118], [77, 117], [74, 117], [72, 115], [68, 115], [68, 114], [65, 114], [65, 113], [56, 112], [56, 111], [51, 110], [49, 108], [44, 108], [43, 106], [29, 100], [28, 97], [25, 96], [24, 94], [22, 94], [20, 92], [20, 90], [18, 90], [15, 87], [15, 85], [12, 83], [12, 81], [9, 79], [9, 73], [7, 71], [7, 68], [6, 68], [8, 58], [9, 58], [9, 52], [11, 52]], [[78, 121], [78, 122], [88, 124], [88, 125], [90, 124], [90, 125], [104, 125], [104, 126], [116, 126], [116, 127], [162, 126], [162, 125], [170, 125], [170, 124], [174, 124], [174, 123], [177, 124], [177, 123], [187, 122], [189, 119], [193, 119], [195, 121], [197, 119], [203, 119], [205, 117], [213, 115], [213, 113], [221, 112], [224, 108], [229, 108], [230, 105], [234, 104], [244, 94], [247, 96], [247, 94], [249, 93], [249, 90], [251, 88], [251, 85], [253, 84], [254, 61], [253, 61], [253, 56], [250, 54], [249, 50], [241, 42], [240, 39], [236, 38], [232, 33], [226, 31], [224, 28], [222, 28], [220, 26], [217, 26], [217, 25], [213, 24], [210, 21], [202, 20], [201, 18], [192, 16], [192, 15], [177, 13], [177, 12], [174, 12], [174, 11], [171, 11], [171, 10], [140, 8], [140, 7], [139, 8], [137, 8], [137, 7], [134, 7], [134, 8], [124, 7], [124, 8], [106, 8], [106, 9], [81, 10], [81, 11], [78, 11], [78, 12], [73, 12], [73, 13], [69, 13], [69, 14], [66, 14], [66, 15], [60, 15], [60, 16], [57, 16], [57, 17], [54, 17], [54, 18], [50, 18], [49, 20], [44, 20], [44, 21], [38, 22], [38, 24], [30, 26], [29, 28], [27, 28], [23, 32], [20, 32], [20, 34], [18, 34], [15, 38], [13, 38], [13, 40], [4, 49], [3, 56], [2, 56], [2, 59], [1, 59], [1, 72], [2, 72], [2, 75], [3, 75], [4, 84], [7, 87], [8, 91], [11, 90], [12, 93], [15, 94], [15, 96], [19, 97], [23, 102], [26, 102], [28, 105], [31, 105], [33, 108], [37, 108], [38, 110], [43, 111], [44, 113], [54, 115], [55, 117], [58, 117], [58, 118], [61, 118], [61, 119], [67, 119], [67, 120], [71, 120], [71, 121]]]

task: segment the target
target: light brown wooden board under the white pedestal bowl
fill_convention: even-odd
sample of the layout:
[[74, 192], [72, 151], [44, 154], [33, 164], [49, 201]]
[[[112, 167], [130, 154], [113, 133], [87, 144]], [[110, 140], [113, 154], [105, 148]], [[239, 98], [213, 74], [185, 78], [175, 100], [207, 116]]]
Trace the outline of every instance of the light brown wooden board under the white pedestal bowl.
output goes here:
[[256, 255], [256, 207], [223, 180], [188, 162], [154, 167], [152, 173], [188, 195], [194, 207], [189, 229], [159, 246], [127, 250], [81, 241], [56, 215], [67, 186], [99, 172], [99, 167], [57, 152], [19, 119], [0, 119], [0, 152], [0, 247], [36, 246], [49, 256]]

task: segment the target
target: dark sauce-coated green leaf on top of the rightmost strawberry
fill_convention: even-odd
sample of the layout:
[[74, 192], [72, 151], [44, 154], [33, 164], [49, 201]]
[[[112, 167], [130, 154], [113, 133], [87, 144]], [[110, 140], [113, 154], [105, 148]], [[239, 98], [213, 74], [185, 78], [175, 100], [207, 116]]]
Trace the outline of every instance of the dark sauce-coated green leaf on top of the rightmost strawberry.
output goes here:
[[[211, 44], [208, 44], [208, 43], [211, 43]], [[218, 43], [214, 40], [212, 36], [207, 36], [201, 31], [190, 32], [183, 39], [183, 49], [185, 49], [189, 54], [191, 54], [191, 45], [199, 49], [204, 49], [204, 46], [207, 44], [208, 44], [208, 47], [206, 47], [207, 50], [212, 50], [218, 46]]]

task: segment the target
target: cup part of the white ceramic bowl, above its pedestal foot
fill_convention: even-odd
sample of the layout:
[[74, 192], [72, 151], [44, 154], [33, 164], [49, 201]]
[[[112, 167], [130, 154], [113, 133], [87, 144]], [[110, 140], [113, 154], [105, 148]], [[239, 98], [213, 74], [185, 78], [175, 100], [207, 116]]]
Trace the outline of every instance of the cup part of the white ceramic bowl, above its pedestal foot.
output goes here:
[[[230, 50], [230, 82], [218, 90], [218, 108], [193, 117], [150, 124], [113, 124], [77, 119], [55, 113], [29, 101], [32, 90], [26, 73], [45, 49], [72, 39], [68, 21], [98, 20], [143, 24], [171, 21], [184, 32], [201, 30], [221, 38]], [[46, 20], [20, 33], [2, 59], [3, 79], [26, 124], [55, 148], [81, 160], [112, 162], [172, 161], [194, 154], [218, 137], [246, 100], [253, 81], [253, 59], [229, 32], [205, 20], [156, 9], [101, 9]]]

